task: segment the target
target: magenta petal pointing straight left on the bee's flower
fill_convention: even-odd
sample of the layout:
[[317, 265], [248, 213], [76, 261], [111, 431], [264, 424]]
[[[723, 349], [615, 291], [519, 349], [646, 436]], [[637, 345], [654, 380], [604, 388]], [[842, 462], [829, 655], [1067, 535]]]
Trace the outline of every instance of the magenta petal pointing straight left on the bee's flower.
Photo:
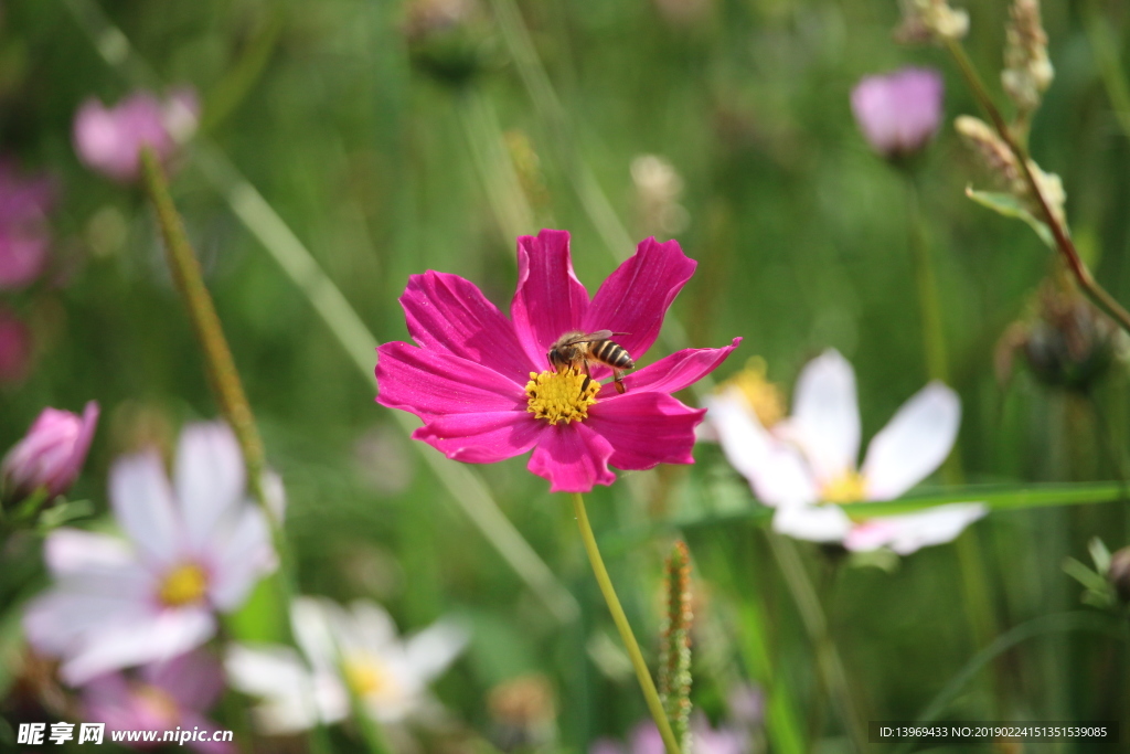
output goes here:
[[443, 414], [525, 410], [523, 385], [475, 362], [407, 343], [386, 343], [376, 352], [376, 402], [382, 406], [425, 419]]

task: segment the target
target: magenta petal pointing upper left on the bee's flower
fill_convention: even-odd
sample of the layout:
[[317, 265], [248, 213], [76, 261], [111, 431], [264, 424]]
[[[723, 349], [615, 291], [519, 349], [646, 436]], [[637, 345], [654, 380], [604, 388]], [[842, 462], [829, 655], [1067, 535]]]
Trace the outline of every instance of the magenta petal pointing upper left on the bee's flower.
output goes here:
[[424, 348], [492, 366], [523, 383], [531, 370], [545, 369], [545, 356], [531, 363], [510, 320], [473, 283], [458, 275], [428, 271], [411, 276], [400, 304], [408, 332]]

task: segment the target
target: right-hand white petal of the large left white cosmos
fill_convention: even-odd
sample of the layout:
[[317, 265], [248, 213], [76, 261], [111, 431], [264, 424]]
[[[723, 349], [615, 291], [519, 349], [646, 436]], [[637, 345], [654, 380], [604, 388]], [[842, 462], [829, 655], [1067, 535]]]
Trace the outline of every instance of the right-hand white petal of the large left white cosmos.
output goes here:
[[255, 583], [278, 565], [262, 511], [247, 503], [242, 505], [235, 523], [212, 532], [212, 541], [205, 545], [211, 553], [209, 596], [225, 613], [243, 605]]

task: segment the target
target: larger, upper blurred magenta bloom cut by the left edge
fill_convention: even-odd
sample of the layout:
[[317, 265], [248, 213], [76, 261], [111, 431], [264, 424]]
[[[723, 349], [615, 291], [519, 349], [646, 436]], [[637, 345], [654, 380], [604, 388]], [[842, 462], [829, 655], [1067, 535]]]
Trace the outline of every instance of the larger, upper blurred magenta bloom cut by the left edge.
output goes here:
[[0, 289], [23, 288], [43, 272], [54, 193], [46, 175], [25, 176], [12, 161], [0, 159]]

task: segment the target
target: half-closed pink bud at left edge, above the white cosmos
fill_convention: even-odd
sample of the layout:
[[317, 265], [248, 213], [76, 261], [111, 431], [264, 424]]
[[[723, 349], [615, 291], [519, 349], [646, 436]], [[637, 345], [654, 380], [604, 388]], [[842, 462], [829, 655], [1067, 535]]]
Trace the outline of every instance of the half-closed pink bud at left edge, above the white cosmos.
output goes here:
[[0, 463], [5, 500], [21, 500], [41, 487], [49, 499], [67, 492], [82, 469], [97, 424], [98, 404], [93, 400], [82, 416], [44, 408]]

